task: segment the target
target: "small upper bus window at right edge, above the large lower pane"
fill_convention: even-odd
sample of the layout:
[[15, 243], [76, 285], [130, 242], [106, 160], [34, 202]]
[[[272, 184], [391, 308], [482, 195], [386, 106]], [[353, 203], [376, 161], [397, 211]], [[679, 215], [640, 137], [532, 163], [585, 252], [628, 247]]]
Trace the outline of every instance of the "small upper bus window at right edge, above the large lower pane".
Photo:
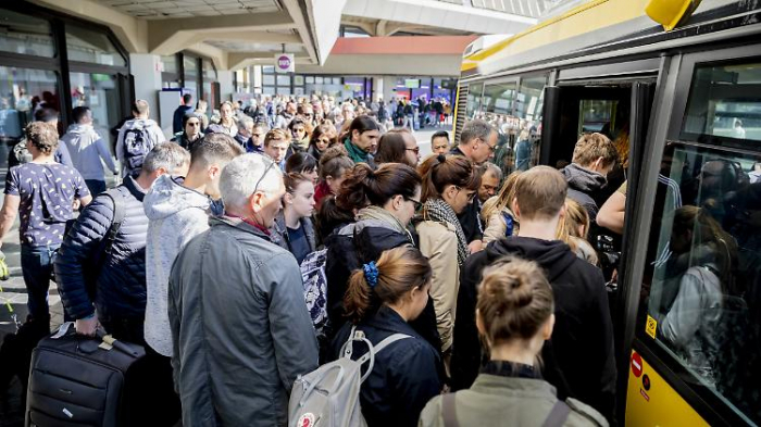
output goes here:
[[682, 139], [761, 141], [761, 63], [697, 66]]

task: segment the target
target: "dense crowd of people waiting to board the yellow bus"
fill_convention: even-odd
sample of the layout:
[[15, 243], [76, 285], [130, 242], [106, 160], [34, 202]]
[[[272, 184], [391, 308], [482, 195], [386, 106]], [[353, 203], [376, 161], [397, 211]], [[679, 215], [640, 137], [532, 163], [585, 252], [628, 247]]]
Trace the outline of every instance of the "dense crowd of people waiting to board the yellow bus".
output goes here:
[[145, 346], [155, 425], [286, 425], [298, 377], [347, 346], [366, 352], [357, 330], [372, 344], [408, 337], [365, 366], [370, 426], [615, 423], [607, 277], [589, 239], [597, 223], [622, 227], [598, 205], [620, 163], [608, 137], [583, 135], [560, 171], [508, 175], [492, 163], [500, 131], [481, 120], [456, 146], [436, 133], [421, 159], [411, 129], [355, 102], [276, 114], [224, 102], [208, 125], [184, 104], [165, 141], [134, 103], [121, 172], [86, 106], [60, 138], [28, 125], [30, 160], [10, 169], [0, 214], [0, 238], [21, 215], [33, 321], [50, 322], [54, 273], [77, 332]]

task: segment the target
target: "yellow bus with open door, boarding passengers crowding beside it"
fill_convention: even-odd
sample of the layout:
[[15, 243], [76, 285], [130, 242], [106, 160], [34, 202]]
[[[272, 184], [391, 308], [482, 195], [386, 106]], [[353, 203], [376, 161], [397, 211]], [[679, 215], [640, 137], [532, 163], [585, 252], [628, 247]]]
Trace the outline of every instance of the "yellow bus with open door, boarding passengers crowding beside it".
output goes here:
[[506, 172], [519, 137], [557, 167], [582, 133], [615, 140], [620, 424], [761, 425], [761, 1], [575, 3], [467, 47], [454, 140], [490, 122]]

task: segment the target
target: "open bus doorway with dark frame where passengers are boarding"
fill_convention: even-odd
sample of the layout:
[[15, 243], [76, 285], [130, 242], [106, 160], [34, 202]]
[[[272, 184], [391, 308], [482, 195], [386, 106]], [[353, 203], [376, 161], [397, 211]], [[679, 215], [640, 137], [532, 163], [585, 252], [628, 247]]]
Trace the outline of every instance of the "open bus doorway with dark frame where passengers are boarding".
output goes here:
[[[558, 168], [573, 160], [573, 150], [581, 135], [600, 133], [616, 147], [621, 162], [608, 175], [607, 186], [596, 194], [598, 206], [615, 191], [636, 189], [644, 143], [650, 123], [659, 60], [635, 61], [585, 70], [561, 71], [556, 87], [548, 88], [547, 140], [542, 141], [542, 162]], [[654, 71], [653, 71], [654, 68]], [[611, 73], [613, 75], [604, 75]], [[626, 73], [627, 75], [622, 75]], [[594, 77], [594, 78], [592, 78]], [[551, 138], [551, 139], [550, 139]], [[636, 194], [636, 192], [632, 192]], [[627, 203], [636, 202], [634, 197]], [[619, 310], [619, 277], [623, 271], [623, 236], [590, 225], [589, 241], [598, 252], [609, 287], [609, 302], [616, 326], [623, 321]], [[625, 229], [624, 229], [625, 235]], [[623, 254], [625, 255], [625, 254]], [[622, 285], [622, 284], [621, 284]]]

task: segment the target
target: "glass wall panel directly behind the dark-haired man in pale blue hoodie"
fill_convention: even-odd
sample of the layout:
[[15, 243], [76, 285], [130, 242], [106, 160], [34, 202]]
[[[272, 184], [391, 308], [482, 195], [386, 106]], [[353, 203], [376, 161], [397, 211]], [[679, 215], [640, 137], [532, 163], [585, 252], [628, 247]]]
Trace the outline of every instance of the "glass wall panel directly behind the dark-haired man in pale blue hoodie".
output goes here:
[[86, 105], [92, 110], [92, 126], [114, 147], [109, 129], [120, 121], [120, 98], [116, 77], [110, 74], [71, 73], [72, 108]]

